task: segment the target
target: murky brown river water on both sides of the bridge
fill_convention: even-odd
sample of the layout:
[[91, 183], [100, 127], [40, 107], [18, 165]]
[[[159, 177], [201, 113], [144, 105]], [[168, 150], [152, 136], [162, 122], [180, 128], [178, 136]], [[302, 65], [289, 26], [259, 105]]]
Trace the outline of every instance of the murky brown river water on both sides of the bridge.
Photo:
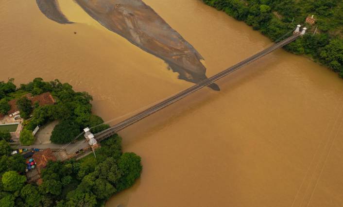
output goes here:
[[[145, 0], [205, 58], [211, 76], [270, 41], [200, 0]], [[191, 86], [167, 65], [104, 29], [73, 1], [75, 24], [34, 0], [1, 0], [0, 79], [69, 82], [105, 120]], [[74, 32], [77, 32], [75, 35]], [[341, 207], [343, 81], [282, 50], [125, 129], [141, 179], [106, 206]]]

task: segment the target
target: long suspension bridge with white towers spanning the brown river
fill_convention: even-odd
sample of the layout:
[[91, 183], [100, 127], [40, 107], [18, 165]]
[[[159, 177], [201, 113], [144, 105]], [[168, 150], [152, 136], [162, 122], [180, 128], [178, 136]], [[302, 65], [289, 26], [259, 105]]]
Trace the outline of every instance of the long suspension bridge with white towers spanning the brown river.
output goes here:
[[[85, 138], [86, 138], [86, 142], [89, 144], [89, 147], [92, 149], [92, 151], [94, 152], [94, 150], [98, 147], [100, 147], [100, 145], [98, 144], [99, 141], [108, 138], [116, 133], [118, 133], [119, 131], [125, 129], [126, 127], [136, 123], [137, 121], [140, 121], [154, 113], [156, 113], [157, 111], [177, 102], [180, 101], [181, 99], [184, 99], [185, 97], [189, 96], [190, 94], [194, 93], [195, 91], [200, 90], [201, 88], [205, 87], [205, 86], [209, 86], [211, 84], [213, 84], [214, 82], [218, 81], [219, 79], [229, 75], [230, 73], [258, 60], [259, 58], [264, 57], [265, 55], [275, 51], [276, 49], [279, 49], [293, 41], [295, 41], [299, 36], [305, 35], [307, 28], [303, 28], [302, 31], [300, 32], [300, 28], [301, 25], [297, 25], [296, 29], [293, 31], [293, 35], [280, 41], [275, 43], [274, 45], [260, 51], [257, 52], [256, 54], [246, 58], [245, 60], [237, 63], [236, 65], [231, 66], [228, 69], [223, 70], [222, 72], [219, 72], [218, 74], [203, 80], [197, 84], [195, 84], [194, 86], [191, 86], [157, 104], [154, 104], [150, 107], [148, 107], [147, 109], [137, 113], [136, 115], [121, 121], [120, 123], [115, 124], [114, 126], [111, 126], [108, 129], [103, 130], [102, 132], [96, 133], [96, 134], [92, 134], [90, 132], [90, 129], [87, 127], [84, 129], [85, 132]], [[290, 31], [292, 32], [292, 31]], [[284, 36], [288, 35], [290, 32], [288, 32], [287, 34], [283, 35], [281, 38], [283, 38]], [[83, 142], [84, 143], [84, 142]], [[82, 143], [81, 143], [82, 144]], [[81, 146], [79, 147], [81, 148]], [[82, 149], [82, 148], [81, 148]], [[94, 154], [95, 155], [95, 154]]]

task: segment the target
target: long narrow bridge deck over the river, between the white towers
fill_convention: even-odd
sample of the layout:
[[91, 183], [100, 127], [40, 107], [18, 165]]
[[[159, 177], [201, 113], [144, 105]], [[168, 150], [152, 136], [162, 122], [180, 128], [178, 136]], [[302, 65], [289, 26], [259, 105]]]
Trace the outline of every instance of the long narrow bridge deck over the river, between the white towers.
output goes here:
[[203, 80], [200, 83], [195, 84], [194, 86], [191, 86], [191, 87], [177, 93], [176, 95], [174, 95], [174, 96], [172, 96], [172, 97], [170, 97], [170, 98], [168, 98], [168, 99], [166, 99], [166, 100], [164, 100], [158, 104], [155, 104], [155, 105], [147, 108], [146, 110], [144, 110], [144, 111], [142, 111], [142, 112], [140, 112], [140, 113], [124, 120], [124, 121], [121, 121], [120, 123], [108, 128], [102, 132], [95, 134], [94, 137], [98, 141], [100, 141], [104, 138], [108, 138], [111, 135], [119, 132], [120, 130], [123, 130], [124, 128], [136, 123], [137, 121], [140, 121], [140, 120], [156, 113], [157, 111], [159, 111], [159, 110], [161, 110], [161, 109], [163, 109], [163, 108], [165, 108], [165, 107], [189, 96], [190, 94], [194, 93], [195, 91], [197, 91], [197, 90], [199, 90], [205, 86], [208, 86], [208, 85], [214, 83], [215, 81], [217, 81], [217, 80], [223, 78], [224, 76], [242, 68], [243, 66], [246, 66], [246, 65], [256, 61], [257, 59], [273, 52], [274, 50], [291, 43], [292, 41], [296, 40], [299, 36], [300, 36], [299, 34], [292, 35], [292, 36], [288, 37], [287, 39], [285, 39], [279, 43], [276, 43], [273, 46], [271, 46], [271, 47], [269, 47], [269, 48], [267, 48], [261, 52], [258, 52], [257, 54], [255, 54], [253, 56], [246, 58], [245, 60], [241, 61], [240, 63], [237, 63], [236, 65], [234, 65], [228, 69], [225, 69], [222, 72], [220, 72], [220, 73], [218, 73], [218, 74], [216, 74], [216, 75], [214, 75], [214, 76], [212, 76], [206, 80]]

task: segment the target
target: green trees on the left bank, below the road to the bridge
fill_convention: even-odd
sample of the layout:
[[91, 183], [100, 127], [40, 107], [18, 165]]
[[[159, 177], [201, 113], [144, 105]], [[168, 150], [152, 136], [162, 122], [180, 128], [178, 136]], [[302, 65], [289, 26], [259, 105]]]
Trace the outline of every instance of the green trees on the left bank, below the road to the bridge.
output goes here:
[[[25, 176], [15, 170], [3, 173], [0, 206], [103, 205], [113, 194], [131, 187], [142, 170], [140, 157], [134, 153], [123, 154], [120, 143], [121, 138], [114, 135], [96, 150], [97, 158], [88, 155], [79, 161], [49, 162], [42, 170], [40, 186], [25, 183]], [[21, 162], [25, 168], [25, 161]]]

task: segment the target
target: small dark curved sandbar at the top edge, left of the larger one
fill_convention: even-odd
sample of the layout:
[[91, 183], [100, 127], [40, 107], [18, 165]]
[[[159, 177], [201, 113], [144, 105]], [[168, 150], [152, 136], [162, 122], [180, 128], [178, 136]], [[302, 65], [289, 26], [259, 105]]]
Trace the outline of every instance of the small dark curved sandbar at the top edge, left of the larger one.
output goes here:
[[71, 24], [67, 17], [63, 15], [58, 6], [57, 0], [36, 0], [39, 10], [52, 21], [60, 24]]

